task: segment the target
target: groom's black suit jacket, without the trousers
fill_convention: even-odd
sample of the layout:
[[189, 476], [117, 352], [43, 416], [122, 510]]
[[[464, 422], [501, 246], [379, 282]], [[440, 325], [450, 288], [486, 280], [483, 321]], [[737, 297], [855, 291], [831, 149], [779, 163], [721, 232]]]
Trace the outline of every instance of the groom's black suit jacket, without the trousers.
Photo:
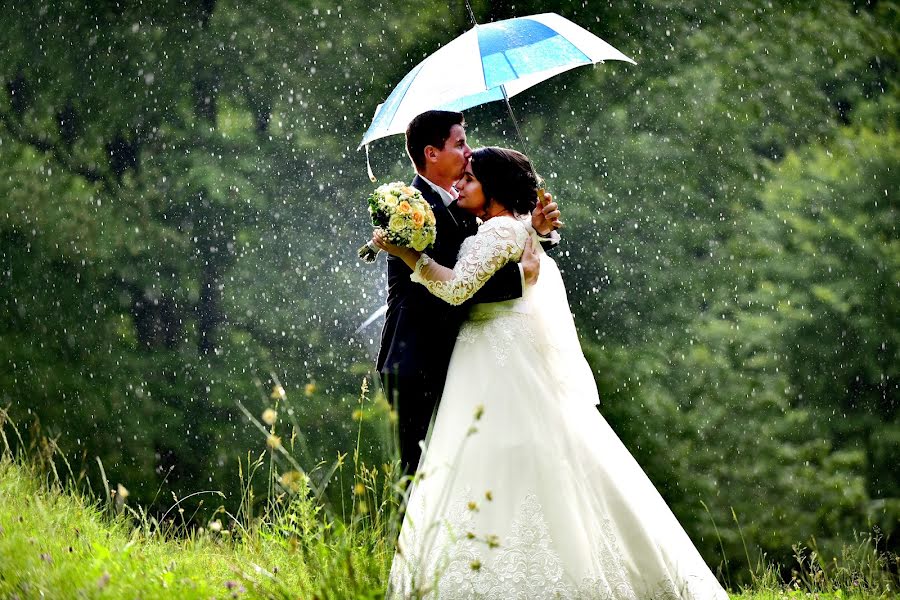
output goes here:
[[[444, 206], [440, 195], [416, 175], [412, 186], [431, 205], [437, 227], [434, 247], [428, 255], [447, 267], [456, 264], [463, 240], [478, 231], [475, 217]], [[410, 281], [412, 271], [395, 256], [388, 257], [388, 310], [381, 333], [378, 371], [400, 376], [439, 377], [447, 373], [450, 355], [467, 305], [500, 302], [522, 295], [519, 266], [508, 263], [491, 277], [466, 304], [452, 306]]]

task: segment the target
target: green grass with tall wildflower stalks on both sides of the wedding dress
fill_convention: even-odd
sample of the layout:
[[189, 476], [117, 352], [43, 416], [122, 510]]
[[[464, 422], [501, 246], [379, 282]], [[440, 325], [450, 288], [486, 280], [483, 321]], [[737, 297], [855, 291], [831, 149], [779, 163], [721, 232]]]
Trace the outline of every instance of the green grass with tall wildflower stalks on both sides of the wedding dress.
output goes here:
[[[366, 393], [363, 384], [361, 405]], [[182, 512], [186, 504], [176, 501], [157, 519], [129, 506], [124, 488], [98, 500], [53, 440], [14, 454], [7, 426], [17, 447], [26, 445], [0, 409], [0, 598], [384, 598], [407, 483], [398, 463], [367, 468], [359, 462], [358, 442], [353, 489], [339, 509], [329, 508], [290, 455], [292, 444], [275, 436], [274, 419], [265, 426], [246, 414], [270, 444], [238, 469], [238, 513], [220, 507], [200, 518]], [[345, 457], [325, 482], [344, 480]], [[103, 489], [110, 490], [98, 465]], [[254, 496], [252, 484], [260, 479], [264, 498]], [[896, 598], [900, 558], [882, 552], [879, 543], [863, 536], [828, 562], [810, 540], [794, 547], [789, 581], [779, 577], [783, 569], [761, 560], [752, 588], [731, 597]]]

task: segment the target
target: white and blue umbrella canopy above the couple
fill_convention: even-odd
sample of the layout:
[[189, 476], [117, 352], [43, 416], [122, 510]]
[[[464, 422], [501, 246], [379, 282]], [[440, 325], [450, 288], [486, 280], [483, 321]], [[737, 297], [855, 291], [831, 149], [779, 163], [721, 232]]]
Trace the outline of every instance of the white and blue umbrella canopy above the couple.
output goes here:
[[569, 69], [633, 60], [555, 13], [476, 25], [410, 71], [394, 88], [360, 142], [403, 133], [427, 110], [465, 110], [508, 100]]

